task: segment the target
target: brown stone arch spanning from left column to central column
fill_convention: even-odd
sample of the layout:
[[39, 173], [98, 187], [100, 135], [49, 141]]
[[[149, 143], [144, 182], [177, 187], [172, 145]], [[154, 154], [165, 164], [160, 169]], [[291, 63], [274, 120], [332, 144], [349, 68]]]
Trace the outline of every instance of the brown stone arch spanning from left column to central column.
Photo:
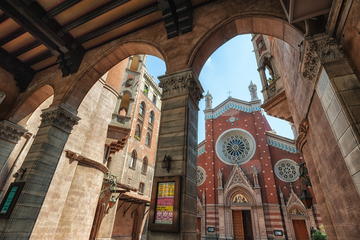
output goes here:
[[[116, 44], [116, 43], [114, 43]], [[68, 105], [77, 109], [85, 95], [91, 89], [91, 87], [103, 76], [107, 71], [109, 71], [113, 66], [121, 62], [122, 60], [138, 54], [153, 55], [158, 58], [161, 58], [165, 61], [166, 56], [158, 45], [155, 43], [150, 43], [147, 41], [128, 41], [117, 43], [114, 47], [109, 47], [104, 53], [99, 54], [100, 50], [97, 49], [97, 52], [88, 53], [86, 59], [89, 60], [92, 55], [100, 55], [99, 57], [93, 57], [90, 66], [86, 70], [82, 71], [80, 77], [73, 79], [71, 86], [68, 88], [67, 92], [54, 99], [54, 104], [59, 104], [65, 102]], [[84, 61], [86, 61], [84, 59]]]

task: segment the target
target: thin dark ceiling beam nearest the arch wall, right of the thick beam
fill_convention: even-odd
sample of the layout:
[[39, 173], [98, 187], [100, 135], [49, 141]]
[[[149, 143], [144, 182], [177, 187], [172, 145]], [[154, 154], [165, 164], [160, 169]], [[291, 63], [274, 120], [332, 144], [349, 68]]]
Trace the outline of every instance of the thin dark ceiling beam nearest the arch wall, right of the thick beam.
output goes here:
[[89, 33], [86, 33], [82, 36], [80, 36], [79, 38], [77, 38], [77, 40], [80, 42], [80, 43], [84, 43], [84, 42], [87, 42], [91, 39], [94, 39], [100, 35], [103, 35], [107, 32], [110, 32], [118, 27], [121, 27], [127, 23], [130, 23], [132, 21], [135, 21], [139, 18], [142, 18], [144, 16], [147, 16], [151, 13], [154, 13], [158, 10], [158, 5], [157, 3], [155, 4], [151, 4], [143, 9], [140, 9], [139, 11], [135, 12], [135, 13], [132, 13], [132, 14], [129, 14], [125, 17], [121, 17], [105, 26], [102, 26], [102, 27], [99, 27], [97, 28], [96, 30], [92, 31], [92, 32], [89, 32]]

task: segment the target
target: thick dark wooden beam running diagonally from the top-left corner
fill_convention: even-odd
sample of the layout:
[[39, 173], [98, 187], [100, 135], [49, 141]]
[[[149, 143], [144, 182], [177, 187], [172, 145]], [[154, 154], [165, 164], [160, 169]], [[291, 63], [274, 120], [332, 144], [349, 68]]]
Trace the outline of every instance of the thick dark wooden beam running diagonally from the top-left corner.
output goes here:
[[32, 0], [2, 0], [0, 8], [57, 56], [63, 76], [75, 73], [84, 48]]

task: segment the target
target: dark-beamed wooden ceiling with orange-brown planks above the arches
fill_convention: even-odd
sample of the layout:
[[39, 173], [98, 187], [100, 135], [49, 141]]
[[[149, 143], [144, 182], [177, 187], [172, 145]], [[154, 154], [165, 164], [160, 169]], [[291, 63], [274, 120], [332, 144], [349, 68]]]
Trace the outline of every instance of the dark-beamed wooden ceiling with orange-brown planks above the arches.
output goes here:
[[215, 0], [1, 0], [0, 67], [21, 90], [59, 64], [75, 73], [86, 51], [159, 22], [167, 37], [192, 31], [193, 9]]

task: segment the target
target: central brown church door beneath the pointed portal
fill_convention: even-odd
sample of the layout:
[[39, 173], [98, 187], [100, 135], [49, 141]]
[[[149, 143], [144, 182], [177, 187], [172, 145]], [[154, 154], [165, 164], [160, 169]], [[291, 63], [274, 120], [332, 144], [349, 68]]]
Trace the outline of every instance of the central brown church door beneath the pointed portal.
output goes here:
[[234, 210], [232, 216], [234, 240], [253, 240], [250, 210]]

